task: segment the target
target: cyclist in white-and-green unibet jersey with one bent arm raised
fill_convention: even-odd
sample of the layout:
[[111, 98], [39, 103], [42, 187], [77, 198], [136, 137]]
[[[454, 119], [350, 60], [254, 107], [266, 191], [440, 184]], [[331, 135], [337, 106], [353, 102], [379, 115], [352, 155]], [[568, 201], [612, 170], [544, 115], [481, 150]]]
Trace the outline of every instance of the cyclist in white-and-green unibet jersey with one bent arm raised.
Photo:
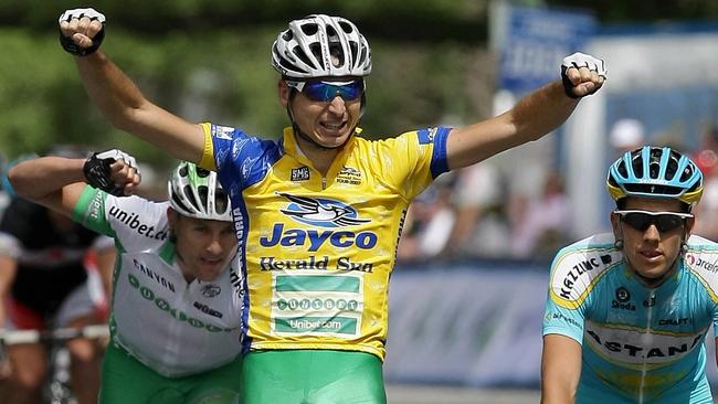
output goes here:
[[237, 403], [244, 289], [229, 196], [214, 172], [180, 162], [169, 201], [119, 198], [139, 183], [135, 167], [110, 150], [9, 172], [19, 195], [114, 238], [99, 403]]

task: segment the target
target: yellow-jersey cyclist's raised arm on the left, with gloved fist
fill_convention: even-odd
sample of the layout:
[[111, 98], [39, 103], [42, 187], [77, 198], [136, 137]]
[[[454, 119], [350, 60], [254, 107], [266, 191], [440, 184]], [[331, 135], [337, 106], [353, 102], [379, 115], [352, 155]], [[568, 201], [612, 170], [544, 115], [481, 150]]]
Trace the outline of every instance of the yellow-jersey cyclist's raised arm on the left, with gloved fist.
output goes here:
[[171, 156], [199, 162], [204, 131], [148, 100], [133, 81], [97, 50], [105, 36], [105, 17], [93, 9], [60, 17], [61, 43], [75, 55], [89, 98], [117, 128], [145, 139]]

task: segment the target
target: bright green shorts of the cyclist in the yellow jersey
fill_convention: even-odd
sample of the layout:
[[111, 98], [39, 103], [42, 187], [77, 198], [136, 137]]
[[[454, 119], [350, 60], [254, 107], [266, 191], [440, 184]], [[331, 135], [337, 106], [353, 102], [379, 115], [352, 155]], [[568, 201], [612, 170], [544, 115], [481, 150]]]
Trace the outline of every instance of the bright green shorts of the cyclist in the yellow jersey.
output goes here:
[[386, 404], [382, 363], [370, 353], [253, 351], [244, 355], [242, 404]]

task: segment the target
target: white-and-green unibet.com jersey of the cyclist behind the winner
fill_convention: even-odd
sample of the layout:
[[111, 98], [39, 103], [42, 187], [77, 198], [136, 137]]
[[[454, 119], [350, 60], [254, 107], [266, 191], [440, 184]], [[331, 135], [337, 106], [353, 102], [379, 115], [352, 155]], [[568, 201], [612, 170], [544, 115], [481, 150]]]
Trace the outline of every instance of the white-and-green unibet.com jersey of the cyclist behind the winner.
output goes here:
[[73, 214], [115, 240], [113, 342], [176, 378], [215, 369], [241, 353], [244, 280], [233, 258], [218, 279], [188, 284], [169, 240], [168, 208], [169, 202], [86, 187]]

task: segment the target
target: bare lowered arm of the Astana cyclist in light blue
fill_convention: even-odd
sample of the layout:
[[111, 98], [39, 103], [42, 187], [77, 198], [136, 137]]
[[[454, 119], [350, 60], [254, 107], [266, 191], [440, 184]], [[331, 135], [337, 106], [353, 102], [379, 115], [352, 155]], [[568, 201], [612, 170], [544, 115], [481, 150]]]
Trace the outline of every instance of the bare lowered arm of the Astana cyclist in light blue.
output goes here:
[[572, 338], [543, 337], [541, 404], [573, 404], [581, 376], [581, 344]]

